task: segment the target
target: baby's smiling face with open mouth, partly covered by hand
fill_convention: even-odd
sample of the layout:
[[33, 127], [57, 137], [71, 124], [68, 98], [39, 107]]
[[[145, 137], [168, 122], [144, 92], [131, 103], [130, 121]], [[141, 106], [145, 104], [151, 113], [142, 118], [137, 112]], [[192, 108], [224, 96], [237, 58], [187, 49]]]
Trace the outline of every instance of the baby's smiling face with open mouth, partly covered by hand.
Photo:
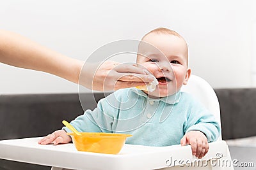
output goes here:
[[154, 92], [144, 92], [149, 97], [175, 94], [187, 83], [191, 73], [186, 42], [178, 36], [164, 33], [150, 33], [143, 41], [150, 45], [140, 45], [137, 64], [150, 71], [159, 82]]

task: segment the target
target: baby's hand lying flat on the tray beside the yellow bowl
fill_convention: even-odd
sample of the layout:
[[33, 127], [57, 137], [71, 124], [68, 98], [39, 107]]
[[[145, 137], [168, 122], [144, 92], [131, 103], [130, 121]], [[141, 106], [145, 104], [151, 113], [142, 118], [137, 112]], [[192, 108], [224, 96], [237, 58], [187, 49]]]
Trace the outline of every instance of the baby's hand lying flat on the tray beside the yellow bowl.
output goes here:
[[67, 132], [64, 130], [58, 130], [52, 134], [48, 134], [45, 138], [38, 141], [38, 144], [46, 145], [53, 143], [57, 145], [59, 143], [70, 143], [72, 141], [71, 137], [67, 135]]

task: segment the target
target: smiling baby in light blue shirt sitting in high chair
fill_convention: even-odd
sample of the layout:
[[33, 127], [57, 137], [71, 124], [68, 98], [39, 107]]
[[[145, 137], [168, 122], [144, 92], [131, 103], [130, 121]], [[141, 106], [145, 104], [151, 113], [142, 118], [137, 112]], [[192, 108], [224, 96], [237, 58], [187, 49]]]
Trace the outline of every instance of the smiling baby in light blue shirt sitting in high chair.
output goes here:
[[[193, 155], [204, 157], [208, 142], [220, 136], [220, 125], [202, 104], [180, 92], [191, 74], [184, 38], [166, 28], [148, 32], [141, 39], [137, 65], [156, 77], [156, 90], [117, 90], [70, 124], [83, 132], [132, 134], [126, 140], [128, 144], [191, 145]], [[70, 131], [63, 127], [38, 143], [69, 143], [72, 139], [66, 132]]]

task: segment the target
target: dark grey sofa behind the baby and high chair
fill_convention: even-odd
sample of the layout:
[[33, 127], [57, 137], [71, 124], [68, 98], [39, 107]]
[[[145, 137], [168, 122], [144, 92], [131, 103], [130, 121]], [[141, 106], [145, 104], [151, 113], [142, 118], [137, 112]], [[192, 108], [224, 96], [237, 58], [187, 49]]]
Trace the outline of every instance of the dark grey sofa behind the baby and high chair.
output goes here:
[[[256, 89], [215, 89], [221, 108], [223, 139], [255, 136]], [[106, 95], [106, 94], [105, 94]], [[86, 109], [96, 107], [102, 93], [83, 94]], [[83, 114], [78, 94], [0, 96], [0, 140], [45, 136]], [[1, 151], [0, 151], [1, 152]], [[0, 159], [0, 170], [51, 169]]]

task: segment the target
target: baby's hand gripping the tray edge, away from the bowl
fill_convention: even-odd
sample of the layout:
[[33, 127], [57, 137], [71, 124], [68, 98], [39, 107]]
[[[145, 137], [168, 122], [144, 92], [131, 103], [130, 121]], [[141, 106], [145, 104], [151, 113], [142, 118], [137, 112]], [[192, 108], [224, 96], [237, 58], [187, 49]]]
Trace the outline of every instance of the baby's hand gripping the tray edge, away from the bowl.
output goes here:
[[196, 155], [199, 159], [204, 157], [204, 155], [209, 150], [209, 144], [204, 133], [200, 131], [190, 131], [186, 133], [180, 140], [181, 146], [191, 145], [192, 154]]

